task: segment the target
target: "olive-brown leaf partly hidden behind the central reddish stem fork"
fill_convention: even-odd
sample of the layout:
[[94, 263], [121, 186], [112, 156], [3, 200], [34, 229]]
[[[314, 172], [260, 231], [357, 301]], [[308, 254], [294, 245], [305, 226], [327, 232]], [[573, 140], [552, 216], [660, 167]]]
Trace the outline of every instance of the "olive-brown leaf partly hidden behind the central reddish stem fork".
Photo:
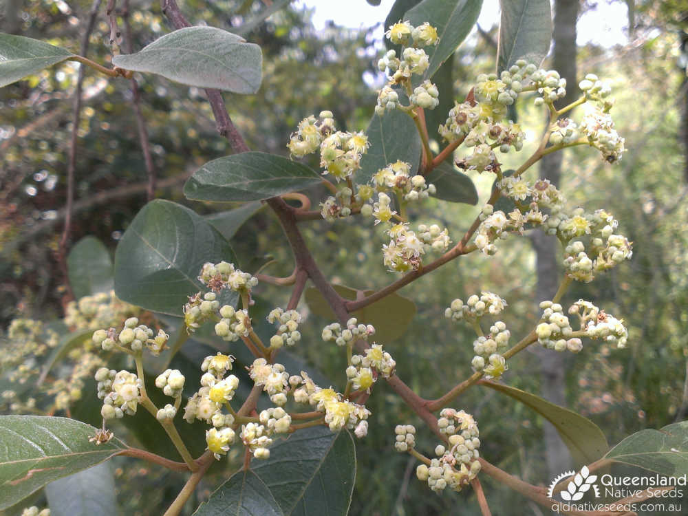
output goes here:
[[[356, 300], [356, 294], [360, 292], [343, 285], [334, 285], [334, 290], [341, 297], [350, 301]], [[365, 292], [361, 293], [368, 296], [373, 292], [374, 290], [365, 290]], [[314, 287], [306, 289], [305, 302], [314, 314], [323, 317], [327, 321], [337, 320], [330, 305], [327, 304], [323, 294], [318, 289]], [[394, 317], [390, 317], [389, 314], [394, 314]], [[375, 327], [375, 340], [387, 343], [394, 341], [394, 339], [399, 338], [406, 332], [406, 328], [415, 314], [416, 305], [413, 304], [413, 301], [394, 292], [394, 294], [389, 294], [389, 296], [380, 299], [380, 301], [352, 312], [351, 316], [356, 317], [359, 323], [372, 324]]]

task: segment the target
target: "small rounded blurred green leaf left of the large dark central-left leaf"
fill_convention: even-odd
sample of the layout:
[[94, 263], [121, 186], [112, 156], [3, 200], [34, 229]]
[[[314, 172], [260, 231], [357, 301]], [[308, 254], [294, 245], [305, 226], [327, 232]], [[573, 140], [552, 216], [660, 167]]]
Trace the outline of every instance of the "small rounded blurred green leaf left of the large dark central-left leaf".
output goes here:
[[96, 237], [80, 239], [69, 251], [67, 272], [76, 299], [109, 292], [114, 286], [110, 252]]

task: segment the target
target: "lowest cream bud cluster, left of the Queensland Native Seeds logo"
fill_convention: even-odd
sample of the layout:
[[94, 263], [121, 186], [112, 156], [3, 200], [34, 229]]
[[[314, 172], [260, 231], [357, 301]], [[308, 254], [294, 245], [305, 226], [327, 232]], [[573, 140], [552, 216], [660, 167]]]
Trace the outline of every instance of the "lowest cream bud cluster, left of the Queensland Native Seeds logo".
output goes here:
[[442, 409], [438, 420], [440, 431], [447, 434], [449, 450], [443, 444], [435, 448], [438, 459], [433, 459], [430, 466], [420, 464], [416, 476], [421, 482], [440, 493], [449, 486], [454, 491], [469, 484], [480, 471], [479, 431], [473, 416], [455, 409]]

